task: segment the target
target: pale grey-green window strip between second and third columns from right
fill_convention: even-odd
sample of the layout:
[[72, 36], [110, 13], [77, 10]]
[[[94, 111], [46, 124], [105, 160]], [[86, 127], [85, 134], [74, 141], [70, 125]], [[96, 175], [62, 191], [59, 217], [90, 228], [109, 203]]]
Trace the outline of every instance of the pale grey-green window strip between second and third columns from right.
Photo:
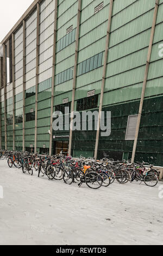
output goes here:
[[78, 64], [78, 76], [85, 74], [102, 66], [103, 52], [84, 60]]

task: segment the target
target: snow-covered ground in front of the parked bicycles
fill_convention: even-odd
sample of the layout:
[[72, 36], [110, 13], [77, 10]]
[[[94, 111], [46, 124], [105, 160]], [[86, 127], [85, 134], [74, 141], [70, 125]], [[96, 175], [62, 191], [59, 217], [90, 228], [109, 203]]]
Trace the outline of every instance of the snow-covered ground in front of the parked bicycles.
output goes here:
[[0, 161], [0, 245], [163, 245], [159, 186], [99, 190], [49, 181]]

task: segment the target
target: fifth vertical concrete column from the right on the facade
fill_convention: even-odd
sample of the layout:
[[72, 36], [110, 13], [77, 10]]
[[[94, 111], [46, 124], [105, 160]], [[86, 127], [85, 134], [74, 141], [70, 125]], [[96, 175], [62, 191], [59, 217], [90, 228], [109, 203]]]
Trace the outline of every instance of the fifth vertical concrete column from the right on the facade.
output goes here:
[[40, 4], [37, 3], [36, 95], [35, 95], [35, 153], [37, 151], [37, 108], [38, 108], [38, 84], [39, 84], [39, 33], [40, 33]]

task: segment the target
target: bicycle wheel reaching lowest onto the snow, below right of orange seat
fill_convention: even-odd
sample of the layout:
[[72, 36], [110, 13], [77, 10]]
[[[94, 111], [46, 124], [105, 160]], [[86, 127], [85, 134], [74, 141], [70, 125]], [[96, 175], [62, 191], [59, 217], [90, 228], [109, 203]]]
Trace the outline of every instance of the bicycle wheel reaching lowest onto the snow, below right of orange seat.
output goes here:
[[85, 183], [88, 187], [97, 190], [103, 184], [103, 180], [101, 175], [97, 174], [96, 172], [88, 172], [85, 175]]

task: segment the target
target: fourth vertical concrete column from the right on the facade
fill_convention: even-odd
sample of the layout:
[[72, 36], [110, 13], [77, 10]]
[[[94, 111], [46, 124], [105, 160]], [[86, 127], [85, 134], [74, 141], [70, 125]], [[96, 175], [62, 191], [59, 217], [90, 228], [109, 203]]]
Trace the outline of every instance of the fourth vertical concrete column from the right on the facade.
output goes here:
[[52, 71], [52, 96], [51, 96], [51, 127], [50, 127], [50, 141], [49, 141], [49, 155], [52, 155], [52, 140], [53, 140], [53, 106], [54, 106], [54, 86], [55, 86], [55, 56], [56, 56], [56, 40], [57, 40], [57, 14], [58, 1], [55, 0], [54, 10], [54, 42], [53, 42], [53, 71]]

